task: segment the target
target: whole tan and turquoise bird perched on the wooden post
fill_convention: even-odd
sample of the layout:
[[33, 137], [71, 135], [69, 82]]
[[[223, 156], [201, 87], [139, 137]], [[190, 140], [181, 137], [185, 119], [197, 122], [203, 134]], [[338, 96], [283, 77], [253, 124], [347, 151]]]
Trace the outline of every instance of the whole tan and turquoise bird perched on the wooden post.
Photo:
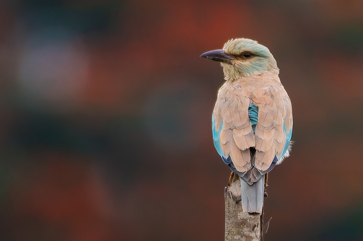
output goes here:
[[268, 48], [245, 38], [201, 57], [220, 62], [224, 73], [212, 115], [214, 146], [240, 176], [244, 212], [261, 213], [265, 175], [291, 148], [292, 107], [280, 70]]

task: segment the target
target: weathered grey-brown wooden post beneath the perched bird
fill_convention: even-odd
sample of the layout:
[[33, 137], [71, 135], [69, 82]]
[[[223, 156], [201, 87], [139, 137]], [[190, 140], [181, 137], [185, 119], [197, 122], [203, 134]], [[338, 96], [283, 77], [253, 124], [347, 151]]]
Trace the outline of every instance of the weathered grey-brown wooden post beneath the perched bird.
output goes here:
[[243, 212], [240, 184], [240, 178], [233, 173], [224, 190], [225, 241], [262, 241], [263, 214]]

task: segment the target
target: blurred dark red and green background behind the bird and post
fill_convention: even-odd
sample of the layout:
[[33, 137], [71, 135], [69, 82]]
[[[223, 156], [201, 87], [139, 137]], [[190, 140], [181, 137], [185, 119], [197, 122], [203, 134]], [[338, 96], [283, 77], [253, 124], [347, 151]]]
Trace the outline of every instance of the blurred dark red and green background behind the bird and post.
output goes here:
[[2, 0], [0, 233], [221, 241], [229, 168], [199, 58], [268, 46], [293, 103], [265, 240], [363, 240], [363, 1]]

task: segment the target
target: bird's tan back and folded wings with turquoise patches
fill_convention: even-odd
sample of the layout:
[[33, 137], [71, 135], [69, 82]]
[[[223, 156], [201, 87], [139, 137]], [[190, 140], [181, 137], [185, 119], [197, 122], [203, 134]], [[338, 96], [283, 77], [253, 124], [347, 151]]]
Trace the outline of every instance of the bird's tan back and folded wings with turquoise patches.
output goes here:
[[218, 92], [212, 122], [217, 151], [248, 184], [289, 155], [291, 102], [277, 75], [227, 81]]

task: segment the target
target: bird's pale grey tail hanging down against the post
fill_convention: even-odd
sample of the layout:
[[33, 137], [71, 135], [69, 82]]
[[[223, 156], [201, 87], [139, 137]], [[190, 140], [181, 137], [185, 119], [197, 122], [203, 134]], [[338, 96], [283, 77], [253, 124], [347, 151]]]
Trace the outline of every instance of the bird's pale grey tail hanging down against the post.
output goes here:
[[248, 185], [241, 179], [241, 202], [244, 212], [262, 212], [264, 206], [265, 175], [260, 180]]

